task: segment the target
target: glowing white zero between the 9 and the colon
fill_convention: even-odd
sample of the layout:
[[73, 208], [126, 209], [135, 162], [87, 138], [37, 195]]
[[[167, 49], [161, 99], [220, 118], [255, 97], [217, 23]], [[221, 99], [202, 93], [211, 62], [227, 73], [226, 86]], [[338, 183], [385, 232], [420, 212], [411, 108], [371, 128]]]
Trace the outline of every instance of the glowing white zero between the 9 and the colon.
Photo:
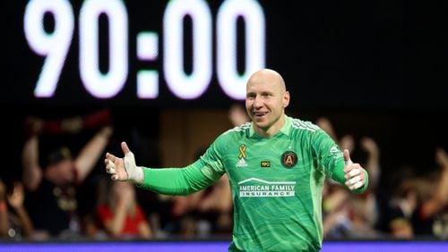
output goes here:
[[[99, 70], [99, 15], [108, 17], [108, 72]], [[128, 74], [128, 21], [119, 0], [89, 0], [80, 11], [80, 74], [94, 97], [110, 98], [125, 87]]]

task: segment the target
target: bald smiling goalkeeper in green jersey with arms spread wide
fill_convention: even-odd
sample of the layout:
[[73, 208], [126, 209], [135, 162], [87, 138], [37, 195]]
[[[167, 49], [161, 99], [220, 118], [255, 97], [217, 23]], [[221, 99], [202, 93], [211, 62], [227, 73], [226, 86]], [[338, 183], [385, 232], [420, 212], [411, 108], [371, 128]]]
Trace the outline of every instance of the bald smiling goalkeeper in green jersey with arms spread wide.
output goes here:
[[114, 181], [168, 195], [205, 189], [227, 173], [234, 202], [229, 251], [319, 251], [324, 179], [361, 193], [368, 175], [325, 131], [286, 115], [289, 99], [277, 71], [256, 71], [246, 86], [251, 122], [222, 133], [194, 164], [137, 166], [123, 142], [125, 157], [106, 154], [106, 171]]

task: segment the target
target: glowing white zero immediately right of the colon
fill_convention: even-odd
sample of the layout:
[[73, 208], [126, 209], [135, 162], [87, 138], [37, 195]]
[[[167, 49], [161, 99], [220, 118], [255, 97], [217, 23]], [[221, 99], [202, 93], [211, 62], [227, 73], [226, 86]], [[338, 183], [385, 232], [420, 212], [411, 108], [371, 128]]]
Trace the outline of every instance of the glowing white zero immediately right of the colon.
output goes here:
[[[184, 70], [183, 24], [193, 21], [193, 71]], [[163, 17], [163, 70], [168, 88], [177, 97], [194, 99], [209, 87], [212, 74], [211, 12], [202, 0], [170, 1]]]

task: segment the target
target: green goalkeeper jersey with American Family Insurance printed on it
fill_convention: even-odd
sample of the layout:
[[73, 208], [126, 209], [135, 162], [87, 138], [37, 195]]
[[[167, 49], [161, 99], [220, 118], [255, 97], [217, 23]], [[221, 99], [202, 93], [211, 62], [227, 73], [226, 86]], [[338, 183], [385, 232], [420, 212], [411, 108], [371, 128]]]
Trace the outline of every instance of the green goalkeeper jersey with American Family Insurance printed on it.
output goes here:
[[271, 138], [258, 136], [247, 122], [221, 134], [183, 169], [144, 168], [141, 187], [187, 195], [227, 173], [234, 202], [230, 251], [318, 251], [323, 181], [327, 176], [343, 185], [343, 168], [343, 153], [328, 134], [286, 116]]

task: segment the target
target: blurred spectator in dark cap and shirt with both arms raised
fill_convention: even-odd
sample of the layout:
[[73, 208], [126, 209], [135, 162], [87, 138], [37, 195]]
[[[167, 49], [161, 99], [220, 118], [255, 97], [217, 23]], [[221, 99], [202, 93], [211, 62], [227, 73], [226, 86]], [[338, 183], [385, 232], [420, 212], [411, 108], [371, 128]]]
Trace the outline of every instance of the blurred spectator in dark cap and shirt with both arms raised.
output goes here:
[[[98, 164], [112, 128], [104, 126], [97, 130], [76, 156], [72, 156], [68, 147], [56, 148], [47, 155], [46, 164], [41, 166], [39, 133], [46, 124], [35, 119], [29, 122], [32, 130], [22, 149], [22, 164], [24, 185], [30, 192], [26, 206], [35, 225], [35, 237], [77, 236], [80, 234], [80, 223], [76, 189]], [[79, 127], [82, 124], [76, 125], [77, 129]]]

